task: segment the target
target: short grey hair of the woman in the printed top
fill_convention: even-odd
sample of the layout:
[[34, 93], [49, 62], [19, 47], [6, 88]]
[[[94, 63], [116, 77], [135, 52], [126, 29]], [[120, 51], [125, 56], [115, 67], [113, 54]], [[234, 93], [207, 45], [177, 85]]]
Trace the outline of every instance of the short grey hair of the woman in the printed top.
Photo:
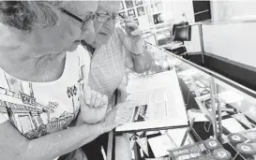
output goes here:
[[44, 28], [58, 22], [58, 2], [0, 1], [0, 22], [20, 30]]

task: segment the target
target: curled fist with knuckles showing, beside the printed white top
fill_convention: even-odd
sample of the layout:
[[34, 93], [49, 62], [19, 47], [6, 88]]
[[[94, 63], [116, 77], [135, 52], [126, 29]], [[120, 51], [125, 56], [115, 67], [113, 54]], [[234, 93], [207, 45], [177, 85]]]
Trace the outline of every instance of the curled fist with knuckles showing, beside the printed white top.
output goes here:
[[80, 97], [81, 110], [77, 124], [96, 124], [101, 121], [108, 107], [108, 97], [84, 86]]

